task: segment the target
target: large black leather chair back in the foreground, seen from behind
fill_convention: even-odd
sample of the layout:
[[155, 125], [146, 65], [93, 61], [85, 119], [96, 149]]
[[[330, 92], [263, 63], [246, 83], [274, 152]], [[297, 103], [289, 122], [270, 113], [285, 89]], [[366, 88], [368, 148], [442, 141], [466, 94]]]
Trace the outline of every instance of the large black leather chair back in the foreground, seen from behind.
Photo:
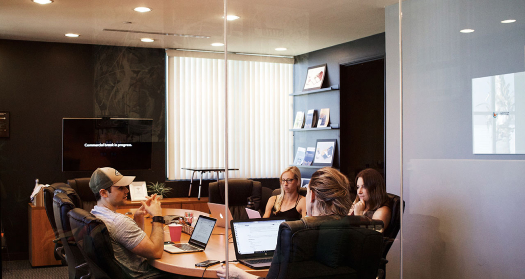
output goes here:
[[363, 216], [316, 216], [279, 226], [266, 278], [375, 278], [383, 222]]

